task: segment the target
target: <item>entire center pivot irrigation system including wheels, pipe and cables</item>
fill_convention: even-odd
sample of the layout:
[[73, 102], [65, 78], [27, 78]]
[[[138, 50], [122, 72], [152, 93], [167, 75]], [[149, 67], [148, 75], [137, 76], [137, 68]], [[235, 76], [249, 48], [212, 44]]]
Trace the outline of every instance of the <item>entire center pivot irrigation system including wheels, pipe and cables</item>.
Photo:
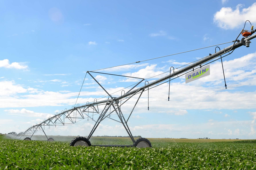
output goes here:
[[[62, 110], [61, 113], [56, 113], [56, 115], [54, 115], [53, 117], [49, 117], [47, 120], [44, 120], [43, 122], [40, 122], [39, 124], [31, 126], [25, 132], [20, 132], [19, 134], [12, 132], [12, 133], [10, 133], [10, 135], [15, 136], [15, 138], [17, 137], [17, 139], [20, 139], [21, 137], [25, 136], [26, 138], [24, 140], [31, 140], [31, 137], [34, 135], [34, 133], [36, 133], [38, 130], [42, 130], [44, 132], [45, 127], [46, 128], [49, 127], [49, 129], [50, 129], [50, 126], [55, 126], [55, 127], [57, 125], [64, 126], [64, 125], [68, 125], [68, 124], [74, 124], [83, 119], [87, 119], [87, 120], [91, 119], [92, 121], [95, 122], [95, 124], [94, 124], [91, 132], [89, 133], [88, 137], [76, 137], [71, 141], [70, 146], [83, 145], [83, 146], [151, 147], [151, 143], [146, 138], [139, 138], [139, 139], [135, 140], [133, 138], [132, 132], [129, 129], [128, 124], [127, 124], [130, 116], [132, 115], [134, 108], [136, 107], [138, 101], [140, 100], [142, 93], [145, 91], [148, 91], [149, 89], [154, 88], [158, 85], [162, 85], [164, 83], [169, 82], [169, 94], [170, 94], [170, 81], [171, 80], [178, 78], [188, 72], [199, 69], [202, 66], [212, 63], [216, 60], [221, 59], [221, 62], [222, 62], [222, 58], [227, 55], [230, 55], [236, 48], [239, 48], [241, 46], [249, 47], [250, 43], [251, 43], [250, 40], [252, 40], [256, 37], [256, 34], [253, 34], [255, 32], [256, 32], [256, 30], [253, 30], [253, 26], [251, 27], [251, 31], [244, 30], [244, 28], [243, 28], [241, 33], [239, 33], [239, 35], [242, 34], [244, 36], [241, 39], [241, 41], [238, 40], [238, 37], [239, 37], [239, 35], [238, 35], [238, 37], [236, 38], [235, 41], [230, 41], [230, 42], [234, 42], [231, 46], [224, 48], [218, 52], [215, 51], [214, 54], [210, 54], [210, 55], [208, 55], [204, 58], [201, 58], [197, 61], [186, 64], [185, 67], [178, 69], [177, 71], [174, 71], [174, 69], [173, 69], [173, 71], [171, 71], [171, 68], [173, 68], [173, 67], [171, 67], [170, 74], [168, 74], [167, 76], [164, 76], [163, 78], [160, 78], [152, 83], [148, 83], [148, 81], [145, 81], [145, 84], [143, 86], [141, 86], [140, 88], [134, 89], [137, 85], [139, 85], [140, 83], [142, 83], [145, 80], [144, 78], [140, 78], [141, 79], [140, 82], [134, 84], [131, 87], [131, 89], [126, 93], [123, 90], [121, 92], [121, 96], [119, 96], [119, 97], [112, 97], [111, 94], [91, 74], [91, 73], [99, 73], [99, 74], [108, 74], [108, 73], [96, 72], [97, 70], [87, 71], [86, 75], [89, 74], [94, 79], [94, 81], [98, 85], [100, 85], [100, 87], [108, 94], [107, 100], [97, 101], [97, 99], [94, 99], [93, 102], [87, 102], [83, 106], [79, 106], [79, 104], [75, 104], [75, 106], [73, 106], [71, 109], [65, 109], [64, 111]], [[225, 43], [223, 43], [223, 44], [225, 44]], [[221, 45], [221, 44], [218, 44], [218, 45]], [[214, 46], [217, 46], [217, 45], [214, 45]], [[210, 46], [210, 47], [213, 47], [213, 46]], [[207, 47], [205, 47], [205, 48], [207, 48]], [[202, 49], [202, 48], [199, 48], [199, 49]], [[194, 51], [194, 50], [190, 50], [190, 51]], [[190, 52], [190, 51], [186, 51], [186, 52]], [[184, 52], [182, 52], [182, 53], [184, 53]], [[177, 53], [177, 54], [180, 54], [180, 53]], [[167, 56], [170, 56], [170, 55], [167, 55]], [[166, 56], [163, 56], [163, 57], [166, 57]], [[161, 57], [157, 57], [157, 58], [161, 58]], [[156, 58], [153, 58], [153, 59], [156, 59]], [[151, 59], [149, 59], [149, 60], [151, 60]], [[148, 60], [144, 60], [144, 61], [148, 61]], [[140, 61], [140, 62], [142, 62], [142, 61]], [[134, 63], [140, 63], [140, 62], [134, 62]], [[129, 63], [129, 64], [131, 64], [131, 63]], [[124, 65], [126, 65], [126, 64], [124, 64]], [[118, 67], [118, 66], [115, 66], [115, 67]], [[110, 67], [110, 68], [113, 68], [113, 67]], [[103, 70], [103, 69], [100, 69], [100, 70]], [[223, 70], [223, 73], [224, 73], [224, 70]], [[115, 75], [115, 74], [108, 74], [108, 75], [122, 76], [122, 77], [127, 77], [127, 78], [135, 78], [135, 77], [129, 77], [129, 76], [123, 76], [123, 75]], [[224, 75], [224, 78], [225, 78], [225, 75]], [[225, 82], [225, 86], [226, 86], [226, 82]], [[81, 89], [82, 89], [82, 87], [81, 87]], [[80, 92], [81, 92], [81, 90], [80, 90]], [[80, 92], [79, 92], [79, 94], [80, 94]], [[128, 118], [125, 119], [125, 117], [122, 113], [122, 110], [121, 110], [121, 106], [124, 105], [128, 100], [130, 100], [136, 94], [139, 94], [138, 98], [137, 98], [134, 106], [131, 108], [131, 113], [129, 114]], [[79, 95], [78, 95], [78, 97], [79, 97]], [[168, 100], [169, 100], [169, 97], [168, 97]], [[148, 107], [148, 109], [149, 109], [149, 107]], [[110, 115], [112, 113], [117, 114], [117, 117], [118, 117], [117, 120], [114, 119], [113, 117], [110, 117]], [[99, 126], [100, 122], [102, 122], [106, 118], [114, 120], [119, 123], [122, 123], [124, 126], [124, 129], [126, 130], [129, 137], [131, 138], [133, 145], [92, 145], [91, 142], [89, 141], [90, 138], [92, 137], [94, 131]], [[44, 132], [44, 134], [45, 134], [45, 132]], [[28, 135], [29, 136], [31, 135], [31, 136], [27, 137]], [[54, 141], [52, 138], [48, 138], [46, 134], [45, 134], [45, 136], [48, 141]]]

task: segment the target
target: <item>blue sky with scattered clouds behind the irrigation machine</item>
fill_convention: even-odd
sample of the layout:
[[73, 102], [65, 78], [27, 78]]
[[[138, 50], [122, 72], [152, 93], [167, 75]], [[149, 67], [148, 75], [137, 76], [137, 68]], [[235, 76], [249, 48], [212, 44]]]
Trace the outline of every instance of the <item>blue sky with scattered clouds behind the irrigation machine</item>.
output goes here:
[[[245, 20], [256, 23], [256, 3], [251, 0], [243, 4], [228, 0], [1, 1], [0, 11], [0, 133], [24, 131], [49, 115], [71, 108], [87, 70], [233, 41]], [[250, 29], [248, 23], [245, 29]], [[255, 138], [255, 47], [252, 40], [250, 48], [240, 47], [223, 59], [227, 90], [217, 61], [211, 63], [210, 76], [188, 84], [184, 76], [173, 80], [171, 101], [167, 101], [168, 84], [150, 90], [149, 111], [144, 93], [129, 122], [132, 134]], [[214, 49], [105, 72], [149, 78], [214, 53]], [[135, 83], [134, 79], [93, 75], [109, 92]], [[88, 75], [84, 83], [80, 105], [106, 95]], [[126, 116], [135, 101], [123, 107]], [[52, 127], [46, 133], [86, 136], [92, 123], [86, 119], [71, 126]], [[105, 121], [94, 135], [124, 136], [126, 132], [121, 124]]]

